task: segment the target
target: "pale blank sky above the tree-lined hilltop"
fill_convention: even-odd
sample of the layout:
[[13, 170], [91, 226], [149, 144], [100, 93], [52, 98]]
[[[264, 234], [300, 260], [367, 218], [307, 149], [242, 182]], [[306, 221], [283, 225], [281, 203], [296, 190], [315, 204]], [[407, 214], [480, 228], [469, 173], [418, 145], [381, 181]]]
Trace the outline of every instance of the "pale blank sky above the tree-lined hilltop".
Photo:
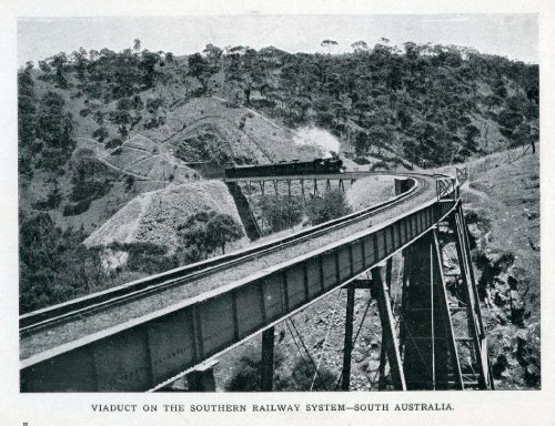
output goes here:
[[178, 55], [202, 51], [208, 43], [310, 53], [323, 51], [324, 39], [339, 43], [334, 52], [344, 52], [352, 51], [354, 41], [372, 47], [386, 38], [391, 45], [457, 44], [538, 63], [537, 34], [537, 17], [529, 13], [20, 18], [17, 28], [18, 65], [80, 47], [120, 51], [135, 38], [143, 49]]

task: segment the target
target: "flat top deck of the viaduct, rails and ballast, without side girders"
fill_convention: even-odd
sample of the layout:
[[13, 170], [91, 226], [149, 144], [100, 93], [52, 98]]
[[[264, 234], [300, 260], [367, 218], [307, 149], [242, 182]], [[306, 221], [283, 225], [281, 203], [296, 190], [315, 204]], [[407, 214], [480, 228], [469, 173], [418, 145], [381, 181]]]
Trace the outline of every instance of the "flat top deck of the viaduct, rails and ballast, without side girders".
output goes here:
[[[359, 172], [354, 178], [354, 174], [341, 174], [341, 179], [386, 174], [393, 178], [408, 178], [413, 181], [413, 185], [407, 192], [394, 199], [280, 240], [21, 315], [19, 320], [20, 358], [26, 359], [72, 339], [164, 308], [172, 303], [193, 297], [214, 290], [225, 282], [242, 277], [229, 275], [230, 270], [241, 270], [240, 273], [243, 276], [263, 270], [274, 262], [271, 256], [283, 250], [291, 248], [291, 254], [287, 257], [293, 258], [314, 250], [315, 246], [320, 248], [325, 244], [331, 244], [372, 226], [372, 220], [375, 221], [374, 225], [376, 225], [393, 215], [402, 214], [411, 207], [430, 202], [436, 195], [432, 183], [435, 182], [434, 178], [438, 175]], [[301, 247], [305, 248], [304, 253], [301, 252]], [[222, 281], [225, 277], [229, 278]], [[209, 287], [206, 287], [208, 280], [211, 281]]]

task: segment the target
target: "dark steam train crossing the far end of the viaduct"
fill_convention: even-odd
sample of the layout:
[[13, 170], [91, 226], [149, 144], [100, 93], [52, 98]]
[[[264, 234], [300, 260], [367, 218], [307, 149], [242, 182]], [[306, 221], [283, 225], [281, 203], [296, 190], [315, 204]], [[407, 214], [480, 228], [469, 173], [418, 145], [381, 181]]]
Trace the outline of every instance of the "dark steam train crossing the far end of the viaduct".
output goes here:
[[344, 173], [345, 166], [337, 155], [313, 161], [280, 161], [272, 164], [235, 165], [225, 169], [226, 179], [258, 176], [289, 176]]

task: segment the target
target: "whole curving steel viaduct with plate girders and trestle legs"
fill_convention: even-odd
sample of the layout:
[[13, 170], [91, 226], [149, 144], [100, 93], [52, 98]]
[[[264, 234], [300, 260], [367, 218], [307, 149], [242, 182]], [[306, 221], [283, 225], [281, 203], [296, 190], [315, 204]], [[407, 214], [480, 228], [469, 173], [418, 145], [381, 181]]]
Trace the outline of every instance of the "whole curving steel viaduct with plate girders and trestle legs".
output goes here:
[[[258, 183], [262, 192], [268, 181], [274, 181], [276, 192], [276, 182], [285, 181], [291, 196], [295, 180], [304, 195], [306, 181], [316, 193], [317, 181], [327, 187], [337, 181], [344, 189], [343, 181], [373, 174], [383, 173], [229, 181]], [[392, 389], [493, 389], [460, 196], [466, 170], [457, 170], [456, 178], [392, 175], [396, 196], [371, 209], [20, 316], [21, 390], [144, 392], [184, 375], [191, 390], [213, 390], [213, 361], [259, 333], [261, 389], [271, 390], [274, 325], [342, 287], [347, 290], [342, 389], [350, 386], [354, 294], [369, 290], [382, 323], [381, 383], [387, 367]], [[450, 303], [445, 286], [445, 235], [456, 246], [457, 306]], [[307, 245], [314, 241], [325, 243]], [[269, 267], [256, 264], [278, 252], [286, 260]], [[394, 255], [402, 255], [404, 264], [398, 326], [390, 297]], [[238, 278], [222, 280], [251, 263], [253, 268]], [[369, 274], [371, 278], [361, 280]], [[212, 285], [204, 290], [198, 284], [202, 282]], [[193, 287], [196, 293], [185, 292]], [[453, 324], [461, 314], [464, 335]], [[462, 362], [462, 352], [470, 364]]]

